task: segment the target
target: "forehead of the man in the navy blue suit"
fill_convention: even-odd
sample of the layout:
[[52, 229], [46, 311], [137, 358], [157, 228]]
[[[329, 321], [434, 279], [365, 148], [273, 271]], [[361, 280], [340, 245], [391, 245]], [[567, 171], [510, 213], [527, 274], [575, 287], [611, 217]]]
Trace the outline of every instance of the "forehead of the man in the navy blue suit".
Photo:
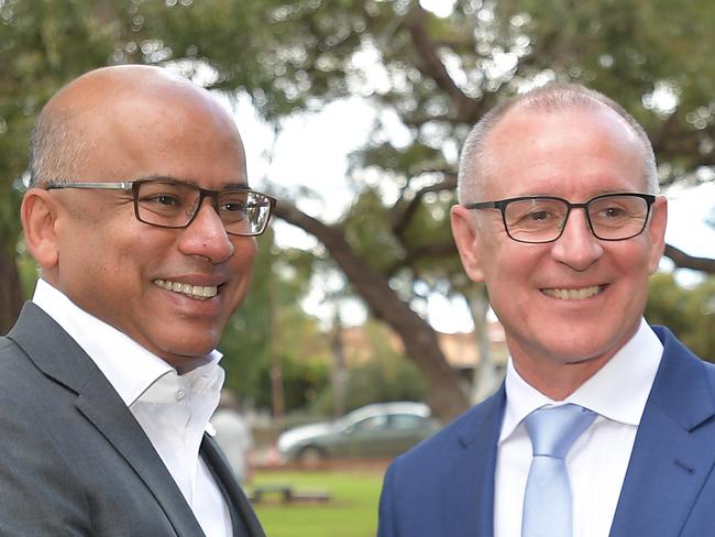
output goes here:
[[513, 110], [487, 138], [485, 157], [490, 197], [575, 200], [646, 186], [640, 140], [605, 106]]

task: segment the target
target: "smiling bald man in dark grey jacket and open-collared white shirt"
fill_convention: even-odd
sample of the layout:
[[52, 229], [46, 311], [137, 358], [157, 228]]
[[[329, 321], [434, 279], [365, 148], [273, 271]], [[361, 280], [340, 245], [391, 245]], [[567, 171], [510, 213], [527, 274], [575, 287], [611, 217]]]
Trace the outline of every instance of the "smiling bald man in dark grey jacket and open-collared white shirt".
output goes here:
[[0, 339], [0, 535], [264, 535], [205, 428], [274, 202], [232, 117], [169, 70], [48, 101], [21, 209], [41, 275]]

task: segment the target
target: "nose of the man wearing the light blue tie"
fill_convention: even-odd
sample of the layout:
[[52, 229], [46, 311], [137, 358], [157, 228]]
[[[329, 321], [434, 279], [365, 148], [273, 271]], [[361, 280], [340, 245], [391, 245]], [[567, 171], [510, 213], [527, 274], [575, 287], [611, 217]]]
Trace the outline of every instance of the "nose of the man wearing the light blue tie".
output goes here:
[[552, 257], [574, 271], [584, 272], [603, 255], [603, 245], [591, 231], [585, 209], [573, 209], [563, 233], [553, 243]]

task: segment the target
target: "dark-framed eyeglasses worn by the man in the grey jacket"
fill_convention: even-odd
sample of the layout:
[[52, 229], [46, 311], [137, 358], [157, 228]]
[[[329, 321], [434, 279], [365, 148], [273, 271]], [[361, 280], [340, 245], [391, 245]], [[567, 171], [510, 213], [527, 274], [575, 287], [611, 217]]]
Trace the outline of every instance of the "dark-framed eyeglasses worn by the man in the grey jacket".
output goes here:
[[132, 191], [134, 215], [140, 222], [160, 228], [186, 228], [205, 198], [211, 199], [226, 232], [254, 237], [268, 224], [276, 199], [250, 188], [208, 190], [190, 183], [172, 179], [140, 179], [119, 183], [51, 183], [45, 189], [90, 188]]

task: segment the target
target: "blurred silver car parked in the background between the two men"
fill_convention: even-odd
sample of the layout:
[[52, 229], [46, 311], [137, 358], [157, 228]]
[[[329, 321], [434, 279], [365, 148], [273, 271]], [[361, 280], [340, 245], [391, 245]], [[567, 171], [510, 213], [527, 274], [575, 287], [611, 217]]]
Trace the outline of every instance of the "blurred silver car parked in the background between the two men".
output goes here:
[[336, 421], [286, 430], [278, 437], [278, 452], [284, 461], [306, 465], [327, 458], [393, 458], [439, 428], [422, 403], [376, 403]]

